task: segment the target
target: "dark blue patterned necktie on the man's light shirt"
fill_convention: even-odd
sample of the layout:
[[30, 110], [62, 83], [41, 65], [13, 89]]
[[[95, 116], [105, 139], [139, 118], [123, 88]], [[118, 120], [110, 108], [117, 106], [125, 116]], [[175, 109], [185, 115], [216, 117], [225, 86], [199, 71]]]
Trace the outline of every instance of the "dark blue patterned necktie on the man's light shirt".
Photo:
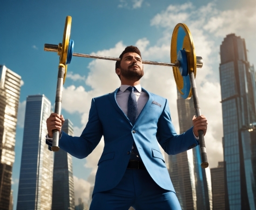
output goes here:
[[130, 91], [130, 95], [128, 98], [128, 111], [127, 111], [127, 117], [131, 121], [132, 125], [135, 124], [136, 119], [138, 118], [138, 106], [137, 106], [137, 100], [136, 95], [134, 93], [135, 87], [128, 87], [127, 90]]

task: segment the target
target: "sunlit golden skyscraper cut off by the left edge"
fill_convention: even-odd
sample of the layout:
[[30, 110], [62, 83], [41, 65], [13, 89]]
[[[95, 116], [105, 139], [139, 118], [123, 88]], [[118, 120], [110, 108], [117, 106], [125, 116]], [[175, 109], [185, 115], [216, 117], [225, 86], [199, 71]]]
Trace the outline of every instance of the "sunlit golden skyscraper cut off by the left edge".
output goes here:
[[0, 66], [0, 209], [9, 210], [12, 203], [11, 183], [14, 162], [17, 113], [21, 77]]

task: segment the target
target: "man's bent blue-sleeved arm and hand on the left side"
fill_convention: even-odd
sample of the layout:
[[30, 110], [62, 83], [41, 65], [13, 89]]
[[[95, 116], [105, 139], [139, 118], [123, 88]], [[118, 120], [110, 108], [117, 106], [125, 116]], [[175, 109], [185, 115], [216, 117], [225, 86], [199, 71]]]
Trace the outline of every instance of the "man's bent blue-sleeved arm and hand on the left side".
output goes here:
[[[51, 119], [48, 120], [49, 125], [47, 125], [47, 129], [48, 127], [49, 129], [54, 127], [55, 129], [59, 130], [58, 126], [61, 126], [61, 117], [53, 120], [55, 123], [53, 123]], [[51, 131], [48, 131], [48, 136], [50, 134], [49, 132]], [[99, 144], [103, 133], [102, 125], [98, 117], [94, 99], [92, 100], [88, 123], [83, 130], [81, 136], [72, 137], [67, 135], [63, 131], [61, 131], [61, 133], [62, 135], [59, 141], [59, 146], [62, 150], [67, 151], [72, 156], [76, 158], [85, 158], [94, 150], [94, 148]]]

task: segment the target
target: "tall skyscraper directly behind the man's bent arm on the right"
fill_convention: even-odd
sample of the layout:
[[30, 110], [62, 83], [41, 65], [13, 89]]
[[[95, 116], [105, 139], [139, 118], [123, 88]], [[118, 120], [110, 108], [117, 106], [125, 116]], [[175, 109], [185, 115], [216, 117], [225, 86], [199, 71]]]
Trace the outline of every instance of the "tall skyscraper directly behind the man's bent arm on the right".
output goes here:
[[[193, 126], [195, 115], [193, 99], [184, 100], [178, 92], [177, 98], [180, 133]], [[210, 175], [201, 168], [200, 148], [169, 156], [170, 177], [183, 210], [210, 210]], [[207, 176], [208, 175], [208, 176]]]

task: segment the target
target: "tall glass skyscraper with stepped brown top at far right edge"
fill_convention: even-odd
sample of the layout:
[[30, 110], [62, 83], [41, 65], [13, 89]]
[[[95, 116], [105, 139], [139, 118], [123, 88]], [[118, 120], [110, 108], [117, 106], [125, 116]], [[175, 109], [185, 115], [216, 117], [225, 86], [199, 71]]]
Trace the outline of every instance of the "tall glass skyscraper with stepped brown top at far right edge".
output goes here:
[[244, 39], [227, 35], [220, 46], [223, 149], [230, 210], [255, 210], [255, 72]]

